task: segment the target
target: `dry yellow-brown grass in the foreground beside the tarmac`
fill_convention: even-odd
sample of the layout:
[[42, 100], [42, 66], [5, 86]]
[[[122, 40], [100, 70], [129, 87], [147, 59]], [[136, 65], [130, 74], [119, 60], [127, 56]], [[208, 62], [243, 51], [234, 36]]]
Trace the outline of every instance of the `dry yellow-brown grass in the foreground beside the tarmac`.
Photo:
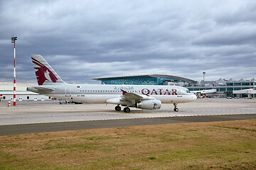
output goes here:
[[256, 169], [256, 120], [2, 136], [0, 169]]

